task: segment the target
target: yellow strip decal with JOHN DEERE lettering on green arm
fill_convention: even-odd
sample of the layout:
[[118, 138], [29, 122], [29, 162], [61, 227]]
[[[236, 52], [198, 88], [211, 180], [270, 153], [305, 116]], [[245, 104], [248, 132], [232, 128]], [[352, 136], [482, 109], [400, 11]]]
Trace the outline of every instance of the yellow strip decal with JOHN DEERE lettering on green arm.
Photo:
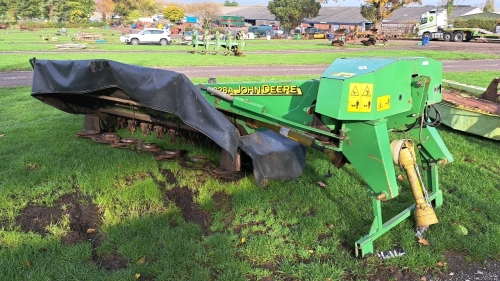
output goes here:
[[297, 85], [259, 85], [259, 86], [224, 86], [214, 87], [224, 94], [232, 96], [268, 95], [268, 96], [301, 96], [302, 89]]

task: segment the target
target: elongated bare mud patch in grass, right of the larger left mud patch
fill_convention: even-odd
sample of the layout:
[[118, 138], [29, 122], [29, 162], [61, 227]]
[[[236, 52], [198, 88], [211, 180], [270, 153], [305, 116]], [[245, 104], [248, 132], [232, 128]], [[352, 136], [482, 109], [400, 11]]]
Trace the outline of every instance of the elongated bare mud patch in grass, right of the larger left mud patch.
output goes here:
[[182, 218], [199, 225], [203, 234], [209, 234], [212, 218], [194, 202], [193, 198], [193, 192], [187, 187], [175, 187], [167, 191], [167, 199], [175, 202], [181, 209]]

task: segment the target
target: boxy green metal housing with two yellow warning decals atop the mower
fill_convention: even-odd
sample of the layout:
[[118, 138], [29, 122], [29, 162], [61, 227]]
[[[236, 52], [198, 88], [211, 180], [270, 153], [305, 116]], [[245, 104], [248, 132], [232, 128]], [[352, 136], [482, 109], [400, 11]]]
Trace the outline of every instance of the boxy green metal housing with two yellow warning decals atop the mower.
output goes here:
[[[376, 120], [412, 108], [415, 75], [430, 76], [440, 86], [442, 64], [427, 58], [338, 59], [321, 76], [316, 111], [340, 120]], [[442, 99], [439, 91], [429, 103]]]

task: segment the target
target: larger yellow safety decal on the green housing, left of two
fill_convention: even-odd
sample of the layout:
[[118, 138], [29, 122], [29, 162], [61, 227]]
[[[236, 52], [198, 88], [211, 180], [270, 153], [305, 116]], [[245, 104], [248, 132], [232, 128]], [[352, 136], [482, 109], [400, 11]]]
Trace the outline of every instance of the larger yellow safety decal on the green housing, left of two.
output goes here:
[[372, 83], [351, 83], [349, 85], [347, 112], [371, 112], [372, 104], [373, 104]]

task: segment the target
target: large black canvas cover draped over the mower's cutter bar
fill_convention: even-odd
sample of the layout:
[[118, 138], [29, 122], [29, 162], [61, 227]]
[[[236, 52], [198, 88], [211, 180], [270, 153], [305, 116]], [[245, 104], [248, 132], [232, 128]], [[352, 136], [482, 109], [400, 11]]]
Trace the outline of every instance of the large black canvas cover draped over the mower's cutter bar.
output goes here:
[[31, 60], [31, 95], [72, 114], [99, 114], [98, 102], [84, 94], [109, 95], [119, 89], [152, 110], [177, 115], [185, 124], [231, 154], [238, 149], [236, 128], [182, 73], [111, 60]]

